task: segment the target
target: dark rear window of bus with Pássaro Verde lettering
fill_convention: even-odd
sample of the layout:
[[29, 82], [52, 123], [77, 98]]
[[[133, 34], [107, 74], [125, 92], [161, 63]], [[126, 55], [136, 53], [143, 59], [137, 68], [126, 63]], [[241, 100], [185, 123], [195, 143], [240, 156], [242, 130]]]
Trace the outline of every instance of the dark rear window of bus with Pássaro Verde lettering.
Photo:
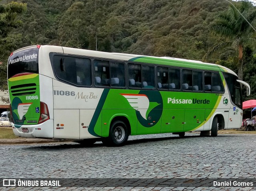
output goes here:
[[38, 74], [38, 48], [19, 51], [8, 60], [8, 79], [20, 73]]

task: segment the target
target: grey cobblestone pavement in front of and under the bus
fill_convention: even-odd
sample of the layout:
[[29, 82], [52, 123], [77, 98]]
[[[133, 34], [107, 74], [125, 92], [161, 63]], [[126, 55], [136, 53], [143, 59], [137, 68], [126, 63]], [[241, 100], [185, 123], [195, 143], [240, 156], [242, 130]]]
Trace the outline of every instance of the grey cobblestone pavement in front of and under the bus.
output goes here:
[[[8, 178], [256, 178], [256, 136], [186, 133], [131, 136], [123, 147], [97, 142], [0, 146], [0, 177]], [[254, 185], [255, 186], [255, 185]], [[256, 190], [256, 187], [61, 187], [11, 190]]]

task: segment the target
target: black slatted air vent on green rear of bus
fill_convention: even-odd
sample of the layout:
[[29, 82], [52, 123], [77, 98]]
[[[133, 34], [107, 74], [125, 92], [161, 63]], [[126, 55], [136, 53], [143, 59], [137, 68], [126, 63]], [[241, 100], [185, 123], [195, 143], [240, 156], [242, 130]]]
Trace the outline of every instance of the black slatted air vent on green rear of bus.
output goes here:
[[13, 96], [22, 96], [22, 95], [30, 95], [36, 93], [36, 84], [22, 84], [12, 86], [10, 89]]

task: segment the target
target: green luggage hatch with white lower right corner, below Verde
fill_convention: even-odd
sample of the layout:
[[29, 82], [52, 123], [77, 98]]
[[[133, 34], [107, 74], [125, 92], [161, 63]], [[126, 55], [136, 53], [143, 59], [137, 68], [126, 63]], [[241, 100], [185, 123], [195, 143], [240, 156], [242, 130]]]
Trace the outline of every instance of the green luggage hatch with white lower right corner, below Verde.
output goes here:
[[191, 131], [198, 126], [197, 130], [204, 130], [205, 109], [185, 109], [184, 131]]

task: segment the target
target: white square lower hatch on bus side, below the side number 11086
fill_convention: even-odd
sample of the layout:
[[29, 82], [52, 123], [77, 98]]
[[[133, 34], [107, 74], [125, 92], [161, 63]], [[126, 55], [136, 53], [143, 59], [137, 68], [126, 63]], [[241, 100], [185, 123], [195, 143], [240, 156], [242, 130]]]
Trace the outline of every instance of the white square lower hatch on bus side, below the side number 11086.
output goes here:
[[79, 109], [54, 109], [54, 138], [79, 139]]

